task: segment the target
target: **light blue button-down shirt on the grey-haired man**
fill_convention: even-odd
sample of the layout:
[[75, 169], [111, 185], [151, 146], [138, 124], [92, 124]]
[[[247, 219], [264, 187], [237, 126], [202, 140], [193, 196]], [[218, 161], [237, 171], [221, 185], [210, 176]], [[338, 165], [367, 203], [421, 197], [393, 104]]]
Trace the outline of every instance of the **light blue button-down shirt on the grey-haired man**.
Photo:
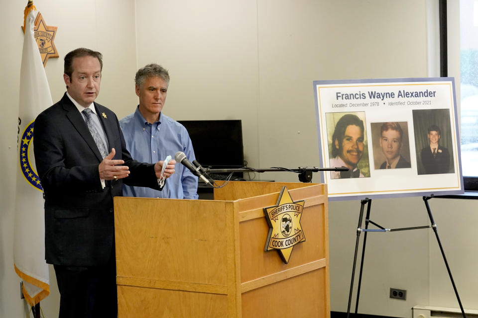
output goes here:
[[[168, 155], [174, 159], [182, 151], [189, 161], [196, 159], [188, 131], [170, 117], [160, 114], [159, 121], [150, 124], [136, 111], [119, 121], [131, 157], [140, 162], [156, 163]], [[123, 195], [143, 198], [197, 199], [198, 177], [177, 163], [175, 172], [166, 179], [162, 191], [123, 185]]]

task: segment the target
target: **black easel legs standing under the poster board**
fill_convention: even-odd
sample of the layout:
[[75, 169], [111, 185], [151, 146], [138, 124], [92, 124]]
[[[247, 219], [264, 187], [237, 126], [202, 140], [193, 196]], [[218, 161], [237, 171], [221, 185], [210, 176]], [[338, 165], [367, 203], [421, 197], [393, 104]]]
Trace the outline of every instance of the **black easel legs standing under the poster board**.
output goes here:
[[[428, 205], [428, 200], [433, 198], [433, 194], [431, 196], [424, 196], [423, 201], [425, 202], [425, 206], [427, 208], [428, 212], [428, 217], [430, 218], [430, 223], [431, 225], [426, 225], [426, 226], [420, 226], [420, 227], [411, 227], [411, 228], [399, 228], [399, 229], [385, 229], [378, 224], [370, 221], [370, 207], [372, 200], [365, 198], [364, 200], [360, 200], [360, 214], [359, 214], [359, 225], [357, 227], [357, 241], [355, 244], [355, 255], [354, 255], [354, 266], [352, 269], [352, 280], [350, 283], [350, 293], [349, 293], [349, 306], [347, 308], [347, 318], [350, 316], [350, 306], [352, 303], [352, 291], [354, 289], [354, 277], [355, 277], [355, 269], [356, 269], [356, 264], [357, 264], [357, 253], [359, 251], [359, 239], [360, 239], [360, 233], [364, 232], [363, 236], [363, 246], [362, 246], [362, 256], [361, 256], [361, 261], [360, 261], [360, 271], [359, 271], [359, 286], [357, 290], [357, 302], [355, 304], [355, 314], [357, 314], [358, 308], [359, 308], [359, 296], [360, 296], [360, 285], [361, 285], [361, 280], [362, 280], [362, 269], [363, 269], [363, 259], [365, 255], [365, 243], [367, 241], [367, 232], [395, 232], [395, 231], [407, 231], [407, 230], [418, 230], [418, 229], [427, 229], [427, 228], [433, 228], [433, 231], [435, 232], [435, 236], [437, 237], [438, 245], [440, 246], [440, 250], [442, 252], [443, 260], [445, 261], [445, 265], [447, 266], [448, 270], [448, 275], [450, 276], [450, 280], [452, 281], [453, 289], [455, 290], [455, 295], [457, 296], [458, 299], [458, 304], [460, 305], [460, 309], [462, 311], [463, 318], [466, 318], [465, 311], [462, 306], [462, 302], [460, 300], [460, 296], [458, 295], [458, 290], [457, 287], [455, 286], [455, 281], [453, 280], [452, 272], [450, 271], [450, 266], [448, 265], [447, 258], [445, 256], [445, 251], [443, 250], [442, 243], [440, 241], [440, 238], [438, 237], [438, 232], [437, 232], [437, 225], [435, 221], [433, 220], [432, 216], [432, 211], [430, 210], [430, 206]], [[367, 204], [367, 215], [365, 217], [365, 229], [362, 229], [362, 218], [363, 218], [363, 209], [365, 204]], [[371, 223], [374, 226], [376, 226], [378, 229], [368, 229], [368, 224]]]

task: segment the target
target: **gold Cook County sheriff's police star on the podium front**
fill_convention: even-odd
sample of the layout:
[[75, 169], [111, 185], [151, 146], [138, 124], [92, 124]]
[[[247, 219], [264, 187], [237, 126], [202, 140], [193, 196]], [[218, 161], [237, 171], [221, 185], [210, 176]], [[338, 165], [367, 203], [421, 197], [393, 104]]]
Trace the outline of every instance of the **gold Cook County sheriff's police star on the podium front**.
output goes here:
[[276, 249], [286, 264], [289, 262], [294, 245], [305, 241], [300, 225], [304, 202], [293, 202], [287, 188], [282, 187], [277, 205], [264, 208], [265, 218], [269, 224], [269, 235], [264, 251]]

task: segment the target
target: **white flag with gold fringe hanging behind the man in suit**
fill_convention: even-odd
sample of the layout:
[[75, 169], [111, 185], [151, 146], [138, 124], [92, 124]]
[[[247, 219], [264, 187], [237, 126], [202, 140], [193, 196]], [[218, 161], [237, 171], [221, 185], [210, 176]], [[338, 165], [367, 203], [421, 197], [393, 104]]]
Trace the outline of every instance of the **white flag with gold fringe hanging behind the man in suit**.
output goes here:
[[[34, 7], [33, 7], [34, 8]], [[33, 306], [50, 293], [45, 261], [45, 212], [40, 180], [33, 156], [33, 125], [36, 116], [52, 105], [50, 88], [40, 52], [33, 36], [37, 12], [25, 20], [20, 69], [19, 132], [13, 262], [23, 280], [23, 295]]]

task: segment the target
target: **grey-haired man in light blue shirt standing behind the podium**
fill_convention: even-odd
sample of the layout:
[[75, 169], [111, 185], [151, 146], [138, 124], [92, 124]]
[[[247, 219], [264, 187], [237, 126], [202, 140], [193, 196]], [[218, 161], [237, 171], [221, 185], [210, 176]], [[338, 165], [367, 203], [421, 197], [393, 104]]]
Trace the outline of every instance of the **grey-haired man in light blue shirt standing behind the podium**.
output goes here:
[[[126, 148], [143, 162], [157, 162], [181, 151], [189, 161], [196, 159], [188, 131], [183, 125], [161, 113], [169, 86], [169, 74], [157, 64], [148, 64], [136, 72], [139, 105], [134, 113], [119, 121]], [[123, 185], [123, 196], [148, 198], [197, 199], [198, 177], [179, 164], [162, 191]]]

